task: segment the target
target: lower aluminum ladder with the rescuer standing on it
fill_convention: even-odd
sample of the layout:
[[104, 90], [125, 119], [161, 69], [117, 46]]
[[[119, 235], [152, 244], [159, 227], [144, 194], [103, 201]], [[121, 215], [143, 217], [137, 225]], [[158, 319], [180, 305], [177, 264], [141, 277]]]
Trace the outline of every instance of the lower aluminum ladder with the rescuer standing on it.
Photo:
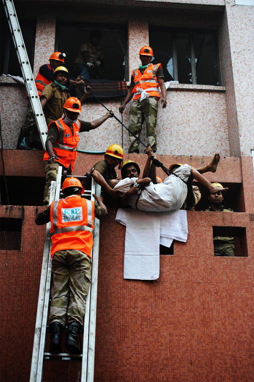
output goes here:
[[[59, 166], [56, 182], [51, 182], [49, 203], [59, 199], [61, 185], [62, 167]], [[86, 178], [86, 177], [78, 177]], [[85, 190], [84, 196], [94, 200], [93, 193], [100, 196], [101, 186], [96, 184], [92, 178], [92, 190]], [[74, 361], [81, 363], [78, 371], [78, 380], [80, 382], [93, 382], [94, 380], [94, 361], [95, 361], [95, 332], [96, 332], [96, 308], [97, 308], [97, 281], [98, 281], [98, 259], [99, 259], [99, 234], [100, 220], [94, 221], [94, 246], [92, 253], [92, 277], [90, 290], [87, 296], [86, 313], [84, 316], [83, 328], [83, 346], [82, 354], [59, 353], [53, 354], [45, 352], [45, 337], [47, 331], [47, 316], [50, 295], [51, 280], [51, 240], [50, 240], [50, 222], [46, 226], [44, 252], [42, 260], [41, 280], [38, 297], [37, 317], [34, 334], [34, 346], [31, 363], [30, 382], [42, 382], [44, 360], [54, 361]], [[68, 370], [68, 369], [67, 369]], [[67, 371], [68, 372], [68, 371]]]

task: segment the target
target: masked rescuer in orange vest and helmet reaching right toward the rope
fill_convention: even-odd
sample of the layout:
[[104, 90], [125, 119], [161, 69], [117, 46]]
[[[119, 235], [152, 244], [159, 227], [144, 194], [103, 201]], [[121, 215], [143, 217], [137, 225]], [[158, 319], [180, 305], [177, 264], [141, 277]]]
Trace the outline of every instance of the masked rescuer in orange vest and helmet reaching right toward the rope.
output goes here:
[[58, 166], [62, 166], [71, 175], [77, 156], [79, 133], [90, 131], [101, 126], [108, 118], [112, 117], [111, 111], [92, 122], [78, 120], [81, 113], [81, 103], [75, 97], [70, 97], [63, 105], [64, 116], [52, 121], [48, 125], [46, 151], [43, 157], [43, 168], [46, 175], [43, 204], [48, 204], [50, 184], [56, 180]]

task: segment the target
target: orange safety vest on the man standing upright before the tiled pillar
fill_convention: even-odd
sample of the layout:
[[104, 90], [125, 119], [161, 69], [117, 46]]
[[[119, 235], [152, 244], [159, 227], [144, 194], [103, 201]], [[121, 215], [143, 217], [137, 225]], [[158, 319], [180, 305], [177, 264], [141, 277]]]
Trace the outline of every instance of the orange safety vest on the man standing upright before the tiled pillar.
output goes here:
[[143, 74], [141, 74], [139, 68], [132, 70], [135, 84], [132, 90], [132, 93], [135, 93], [133, 100], [137, 100], [141, 96], [141, 94], [138, 93], [138, 89], [145, 90], [150, 96], [160, 98], [160, 94], [158, 93], [159, 84], [156, 77], [156, 72], [159, 67], [162, 67], [161, 63], [155, 65], [150, 64], [145, 68]]

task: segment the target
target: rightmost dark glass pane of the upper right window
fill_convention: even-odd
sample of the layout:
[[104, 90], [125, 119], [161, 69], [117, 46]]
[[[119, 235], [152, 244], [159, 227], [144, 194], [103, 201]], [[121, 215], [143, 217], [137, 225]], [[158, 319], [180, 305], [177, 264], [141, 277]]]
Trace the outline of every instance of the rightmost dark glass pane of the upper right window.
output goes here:
[[219, 85], [215, 36], [211, 33], [193, 34], [197, 84]]

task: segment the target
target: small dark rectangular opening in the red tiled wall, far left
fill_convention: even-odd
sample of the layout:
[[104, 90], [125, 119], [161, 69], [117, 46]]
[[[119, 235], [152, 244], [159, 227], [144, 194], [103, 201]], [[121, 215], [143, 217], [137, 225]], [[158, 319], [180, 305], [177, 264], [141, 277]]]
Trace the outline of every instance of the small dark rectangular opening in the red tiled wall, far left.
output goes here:
[[20, 251], [22, 219], [0, 217], [0, 250]]

